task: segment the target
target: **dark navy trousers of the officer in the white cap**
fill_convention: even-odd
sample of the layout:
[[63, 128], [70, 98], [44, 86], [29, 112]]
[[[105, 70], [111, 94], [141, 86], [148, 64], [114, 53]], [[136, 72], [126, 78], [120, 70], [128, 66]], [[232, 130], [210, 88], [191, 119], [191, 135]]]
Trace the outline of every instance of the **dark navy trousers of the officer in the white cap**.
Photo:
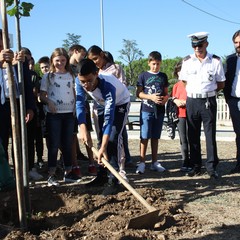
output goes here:
[[206, 107], [206, 98], [187, 98], [188, 140], [190, 145], [190, 162], [195, 169], [202, 166], [201, 157], [201, 125], [206, 139], [207, 159], [205, 166], [211, 174], [218, 164], [216, 145], [216, 97], [209, 97], [209, 106]]

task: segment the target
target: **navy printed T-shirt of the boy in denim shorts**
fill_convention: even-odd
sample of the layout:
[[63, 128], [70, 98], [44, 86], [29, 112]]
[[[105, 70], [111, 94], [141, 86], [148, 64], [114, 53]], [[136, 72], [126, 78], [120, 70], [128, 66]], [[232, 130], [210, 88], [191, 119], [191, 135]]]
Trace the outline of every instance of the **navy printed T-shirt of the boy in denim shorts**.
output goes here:
[[[139, 75], [137, 86], [141, 86], [145, 94], [160, 93], [164, 95], [164, 89], [168, 87], [168, 77], [163, 72], [143, 72]], [[154, 112], [154, 105], [155, 103], [153, 101], [143, 99], [141, 111]], [[165, 106], [159, 105], [158, 112], [165, 112]]]

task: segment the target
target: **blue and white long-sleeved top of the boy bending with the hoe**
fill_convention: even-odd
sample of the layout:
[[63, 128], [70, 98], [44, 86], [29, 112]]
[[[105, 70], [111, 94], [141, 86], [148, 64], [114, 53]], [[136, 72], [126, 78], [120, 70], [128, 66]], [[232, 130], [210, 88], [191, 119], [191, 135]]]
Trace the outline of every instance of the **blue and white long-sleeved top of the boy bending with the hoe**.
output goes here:
[[99, 74], [98, 85], [92, 92], [86, 92], [78, 78], [76, 78], [76, 113], [78, 124], [86, 124], [85, 95], [89, 94], [97, 104], [104, 108], [103, 135], [110, 135], [115, 106], [130, 102], [127, 87], [111, 74]]

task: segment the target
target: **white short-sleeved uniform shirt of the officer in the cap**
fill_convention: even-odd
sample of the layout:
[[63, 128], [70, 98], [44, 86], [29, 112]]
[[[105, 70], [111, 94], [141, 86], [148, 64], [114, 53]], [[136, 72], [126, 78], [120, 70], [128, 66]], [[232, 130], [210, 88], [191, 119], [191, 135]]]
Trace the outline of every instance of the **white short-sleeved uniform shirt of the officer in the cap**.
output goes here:
[[217, 89], [217, 82], [225, 81], [225, 74], [221, 59], [207, 53], [200, 62], [195, 54], [191, 54], [183, 61], [179, 75], [180, 80], [187, 82], [187, 93], [207, 93]]

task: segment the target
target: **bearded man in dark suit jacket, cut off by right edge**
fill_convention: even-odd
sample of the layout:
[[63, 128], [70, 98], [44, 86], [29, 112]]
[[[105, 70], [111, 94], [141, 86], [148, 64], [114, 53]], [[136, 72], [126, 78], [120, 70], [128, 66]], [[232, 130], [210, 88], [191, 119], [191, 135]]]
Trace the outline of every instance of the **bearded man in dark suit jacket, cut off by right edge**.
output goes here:
[[240, 173], [240, 30], [233, 34], [232, 41], [236, 53], [227, 56], [224, 95], [236, 133], [237, 163], [231, 173]]

